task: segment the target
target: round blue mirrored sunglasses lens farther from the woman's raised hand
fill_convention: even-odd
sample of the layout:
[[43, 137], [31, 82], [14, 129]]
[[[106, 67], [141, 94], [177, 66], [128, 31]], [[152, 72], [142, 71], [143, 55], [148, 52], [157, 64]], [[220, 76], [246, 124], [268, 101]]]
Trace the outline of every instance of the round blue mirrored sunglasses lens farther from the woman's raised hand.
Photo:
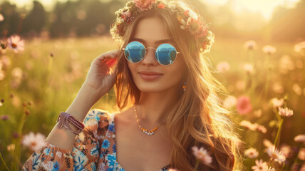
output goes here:
[[155, 51], [157, 61], [162, 65], [170, 65], [175, 61], [177, 51], [171, 44], [161, 44]]

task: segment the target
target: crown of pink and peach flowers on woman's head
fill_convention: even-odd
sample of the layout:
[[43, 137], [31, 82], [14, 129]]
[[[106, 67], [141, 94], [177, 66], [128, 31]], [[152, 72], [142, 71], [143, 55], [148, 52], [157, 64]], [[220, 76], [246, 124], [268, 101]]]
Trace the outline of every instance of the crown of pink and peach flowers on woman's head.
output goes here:
[[200, 51], [203, 53], [210, 51], [212, 43], [214, 43], [214, 33], [209, 30], [210, 24], [205, 24], [205, 20], [191, 9], [185, 9], [183, 5], [177, 5], [177, 2], [170, 0], [128, 1], [123, 9], [115, 12], [117, 18], [110, 26], [113, 38], [122, 39], [127, 26], [135, 16], [150, 9], [166, 9], [171, 15], [175, 15], [180, 23], [180, 28], [189, 31], [200, 43]]

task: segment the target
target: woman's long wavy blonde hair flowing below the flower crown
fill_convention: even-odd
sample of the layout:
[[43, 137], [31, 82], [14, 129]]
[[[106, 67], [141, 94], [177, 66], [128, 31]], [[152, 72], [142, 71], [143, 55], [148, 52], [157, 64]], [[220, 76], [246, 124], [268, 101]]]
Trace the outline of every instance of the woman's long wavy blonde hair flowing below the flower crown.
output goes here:
[[[186, 5], [177, 2], [177, 5]], [[239, 138], [229, 111], [221, 105], [217, 93], [226, 92], [224, 86], [212, 76], [212, 65], [200, 53], [200, 45], [179, 28], [177, 19], [166, 10], [148, 10], [135, 16], [126, 29], [120, 44], [118, 70], [115, 82], [116, 103], [122, 109], [138, 103], [140, 90], [135, 86], [122, 48], [133, 37], [135, 26], [141, 19], [158, 16], [173, 38], [188, 68], [185, 93], [173, 106], [167, 118], [167, 131], [172, 140], [171, 165], [178, 170], [194, 170], [196, 158], [192, 147], [205, 147], [213, 158], [211, 165], [199, 165], [199, 170], [233, 170], [237, 167]]]

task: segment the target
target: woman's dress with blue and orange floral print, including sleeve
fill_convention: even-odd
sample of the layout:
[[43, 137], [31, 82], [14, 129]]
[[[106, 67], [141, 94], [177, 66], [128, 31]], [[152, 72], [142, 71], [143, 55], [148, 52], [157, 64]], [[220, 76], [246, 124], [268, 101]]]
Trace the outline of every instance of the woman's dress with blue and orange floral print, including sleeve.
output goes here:
[[[84, 120], [86, 128], [78, 135], [72, 150], [48, 142], [33, 152], [22, 170], [105, 170], [125, 171], [116, 160], [115, 113], [93, 109]], [[170, 168], [166, 165], [160, 169]]]

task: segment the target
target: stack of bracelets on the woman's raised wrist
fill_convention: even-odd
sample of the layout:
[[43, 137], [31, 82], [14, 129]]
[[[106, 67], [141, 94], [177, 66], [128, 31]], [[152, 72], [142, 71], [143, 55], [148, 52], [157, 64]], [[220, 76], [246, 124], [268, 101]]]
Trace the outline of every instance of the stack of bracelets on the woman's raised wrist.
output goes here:
[[[64, 112], [61, 112], [61, 114], [59, 114], [56, 122], [57, 123], [59, 122], [58, 128], [63, 128], [63, 126], [64, 126], [68, 130], [70, 130], [72, 133], [74, 133], [75, 135], [78, 135], [79, 133], [81, 133], [83, 131], [83, 129], [85, 128], [85, 125], [83, 125], [83, 123], [81, 123], [79, 120], [74, 118], [72, 115], [70, 115], [68, 113], [64, 113]], [[68, 122], [72, 123], [72, 125], [74, 125], [76, 128], [78, 128], [78, 131], [72, 130]]]

